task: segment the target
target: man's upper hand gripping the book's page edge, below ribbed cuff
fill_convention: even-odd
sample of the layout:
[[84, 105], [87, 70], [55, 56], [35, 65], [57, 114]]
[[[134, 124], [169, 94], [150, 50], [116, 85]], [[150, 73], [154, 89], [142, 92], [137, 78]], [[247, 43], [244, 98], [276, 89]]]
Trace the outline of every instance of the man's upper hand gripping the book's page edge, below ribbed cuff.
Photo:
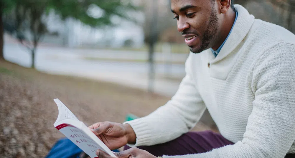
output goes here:
[[89, 128], [111, 150], [136, 141], [136, 135], [129, 124], [99, 122]]

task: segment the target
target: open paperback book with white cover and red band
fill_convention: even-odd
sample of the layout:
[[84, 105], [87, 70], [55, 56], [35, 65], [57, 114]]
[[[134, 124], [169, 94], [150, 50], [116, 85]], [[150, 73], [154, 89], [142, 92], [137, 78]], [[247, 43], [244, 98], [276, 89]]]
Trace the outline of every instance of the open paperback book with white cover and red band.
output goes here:
[[113, 152], [58, 99], [54, 99], [58, 106], [58, 117], [53, 124], [56, 129], [76, 144], [91, 158], [97, 158], [97, 149], [101, 149], [112, 157]]

